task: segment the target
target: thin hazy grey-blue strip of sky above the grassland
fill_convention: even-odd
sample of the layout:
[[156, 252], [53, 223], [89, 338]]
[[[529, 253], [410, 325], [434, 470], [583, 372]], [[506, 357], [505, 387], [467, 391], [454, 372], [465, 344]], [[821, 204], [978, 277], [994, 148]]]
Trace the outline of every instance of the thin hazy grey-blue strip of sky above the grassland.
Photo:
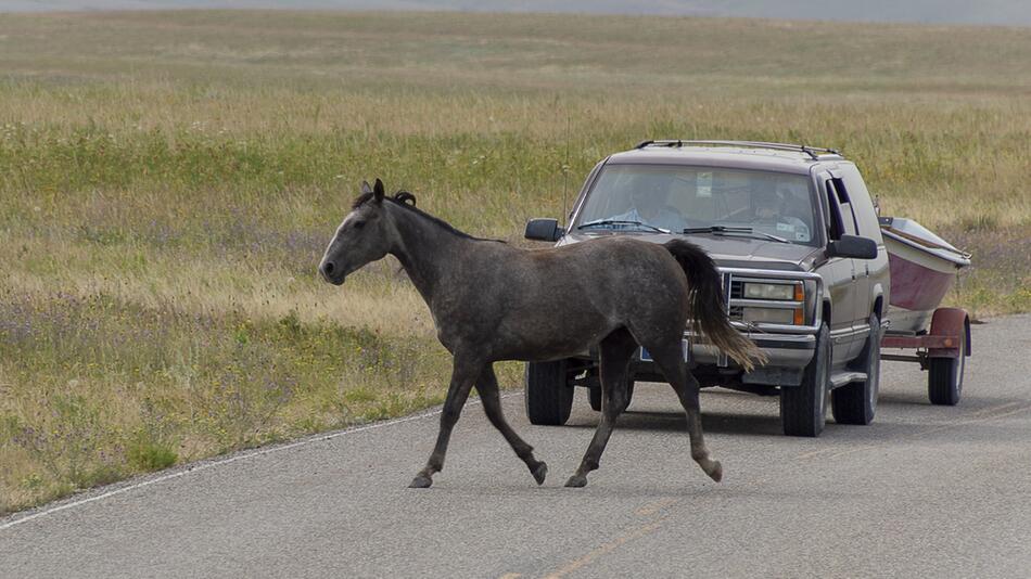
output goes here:
[[1031, 26], [1031, 0], [0, 0], [0, 12], [182, 8], [593, 12]]

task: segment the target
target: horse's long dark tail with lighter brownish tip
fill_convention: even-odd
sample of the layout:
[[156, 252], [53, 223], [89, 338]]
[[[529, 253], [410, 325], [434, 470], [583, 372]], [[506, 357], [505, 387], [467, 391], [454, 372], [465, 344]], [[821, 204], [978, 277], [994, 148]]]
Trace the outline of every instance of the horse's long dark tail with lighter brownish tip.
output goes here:
[[684, 240], [669, 241], [663, 247], [673, 255], [687, 275], [691, 324], [700, 327], [713, 344], [744, 370], [754, 368], [753, 360], [765, 363], [766, 356], [727, 320], [723, 281], [709, 254]]

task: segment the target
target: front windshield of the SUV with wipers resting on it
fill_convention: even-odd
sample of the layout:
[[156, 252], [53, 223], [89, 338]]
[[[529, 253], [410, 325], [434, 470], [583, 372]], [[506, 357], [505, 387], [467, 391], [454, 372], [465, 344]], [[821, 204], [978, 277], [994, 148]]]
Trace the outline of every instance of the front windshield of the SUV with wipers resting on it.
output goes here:
[[807, 176], [785, 172], [609, 165], [595, 181], [575, 227], [754, 234], [813, 245], [810, 183]]

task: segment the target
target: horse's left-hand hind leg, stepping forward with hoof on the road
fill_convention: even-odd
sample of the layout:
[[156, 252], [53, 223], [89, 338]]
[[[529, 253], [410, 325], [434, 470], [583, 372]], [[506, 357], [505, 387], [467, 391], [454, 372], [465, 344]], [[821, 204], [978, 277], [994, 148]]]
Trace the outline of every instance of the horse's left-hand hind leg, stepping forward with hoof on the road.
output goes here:
[[598, 468], [601, 453], [612, 436], [615, 420], [626, 408], [626, 372], [631, 356], [637, 349], [637, 343], [625, 329], [616, 330], [606, 336], [599, 345], [600, 374], [601, 374], [601, 422], [595, 429], [584, 460], [580, 468], [565, 483], [567, 487], [584, 487], [587, 485], [587, 473]]

